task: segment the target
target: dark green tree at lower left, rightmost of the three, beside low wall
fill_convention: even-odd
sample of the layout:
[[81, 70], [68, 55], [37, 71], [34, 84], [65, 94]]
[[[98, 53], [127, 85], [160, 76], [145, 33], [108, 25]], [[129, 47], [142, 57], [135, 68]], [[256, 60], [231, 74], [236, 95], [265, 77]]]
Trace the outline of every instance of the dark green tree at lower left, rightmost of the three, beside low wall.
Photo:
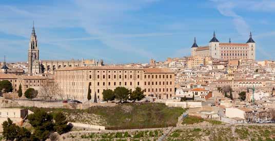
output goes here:
[[58, 134], [67, 133], [71, 130], [72, 126], [67, 125], [66, 116], [62, 112], [57, 112], [54, 114], [53, 119], [55, 120], [53, 129]]

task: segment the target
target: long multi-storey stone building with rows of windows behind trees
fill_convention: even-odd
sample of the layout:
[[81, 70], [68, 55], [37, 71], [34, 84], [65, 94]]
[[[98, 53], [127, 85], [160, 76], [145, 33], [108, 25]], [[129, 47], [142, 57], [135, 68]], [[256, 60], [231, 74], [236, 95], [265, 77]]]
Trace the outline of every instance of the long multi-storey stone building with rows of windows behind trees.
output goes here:
[[88, 87], [99, 100], [103, 99], [103, 90], [116, 87], [131, 90], [141, 87], [146, 96], [157, 98], [166, 99], [174, 95], [174, 73], [162, 68], [67, 67], [55, 70], [54, 78], [66, 98], [81, 101], [87, 101]]

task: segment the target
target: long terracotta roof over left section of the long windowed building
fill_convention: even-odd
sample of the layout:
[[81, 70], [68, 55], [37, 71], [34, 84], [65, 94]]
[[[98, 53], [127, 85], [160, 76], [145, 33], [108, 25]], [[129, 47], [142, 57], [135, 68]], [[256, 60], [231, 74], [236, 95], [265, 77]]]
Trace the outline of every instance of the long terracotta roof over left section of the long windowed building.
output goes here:
[[99, 67], [66, 67], [57, 69], [55, 71], [67, 71], [67, 70], [143, 70], [143, 68], [137, 67], [123, 67], [123, 66], [99, 66]]

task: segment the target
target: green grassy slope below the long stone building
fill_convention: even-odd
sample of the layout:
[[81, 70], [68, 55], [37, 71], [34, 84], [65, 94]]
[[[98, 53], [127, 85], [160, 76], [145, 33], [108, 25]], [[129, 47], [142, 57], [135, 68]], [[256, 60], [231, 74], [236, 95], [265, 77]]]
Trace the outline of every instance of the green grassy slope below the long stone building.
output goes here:
[[[33, 110], [34, 108], [30, 108]], [[107, 129], [139, 129], [175, 126], [178, 117], [185, 112], [180, 107], [168, 107], [163, 103], [127, 103], [114, 107], [90, 107], [85, 110], [43, 108], [50, 112], [66, 112], [69, 114], [89, 113], [100, 115]], [[86, 119], [89, 120], [89, 119]], [[77, 119], [70, 122], [82, 122]]]

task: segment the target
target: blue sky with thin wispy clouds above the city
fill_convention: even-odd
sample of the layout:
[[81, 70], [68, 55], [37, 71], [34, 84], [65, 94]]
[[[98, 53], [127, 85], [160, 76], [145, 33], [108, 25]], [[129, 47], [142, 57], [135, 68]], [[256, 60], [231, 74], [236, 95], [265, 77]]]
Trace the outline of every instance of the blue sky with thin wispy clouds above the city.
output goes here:
[[[27, 62], [34, 21], [40, 59], [148, 63], [206, 46], [256, 41], [256, 59], [275, 59], [273, 0], [0, 1], [0, 62]], [[3, 56], [3, 57], [2, 57]]]

